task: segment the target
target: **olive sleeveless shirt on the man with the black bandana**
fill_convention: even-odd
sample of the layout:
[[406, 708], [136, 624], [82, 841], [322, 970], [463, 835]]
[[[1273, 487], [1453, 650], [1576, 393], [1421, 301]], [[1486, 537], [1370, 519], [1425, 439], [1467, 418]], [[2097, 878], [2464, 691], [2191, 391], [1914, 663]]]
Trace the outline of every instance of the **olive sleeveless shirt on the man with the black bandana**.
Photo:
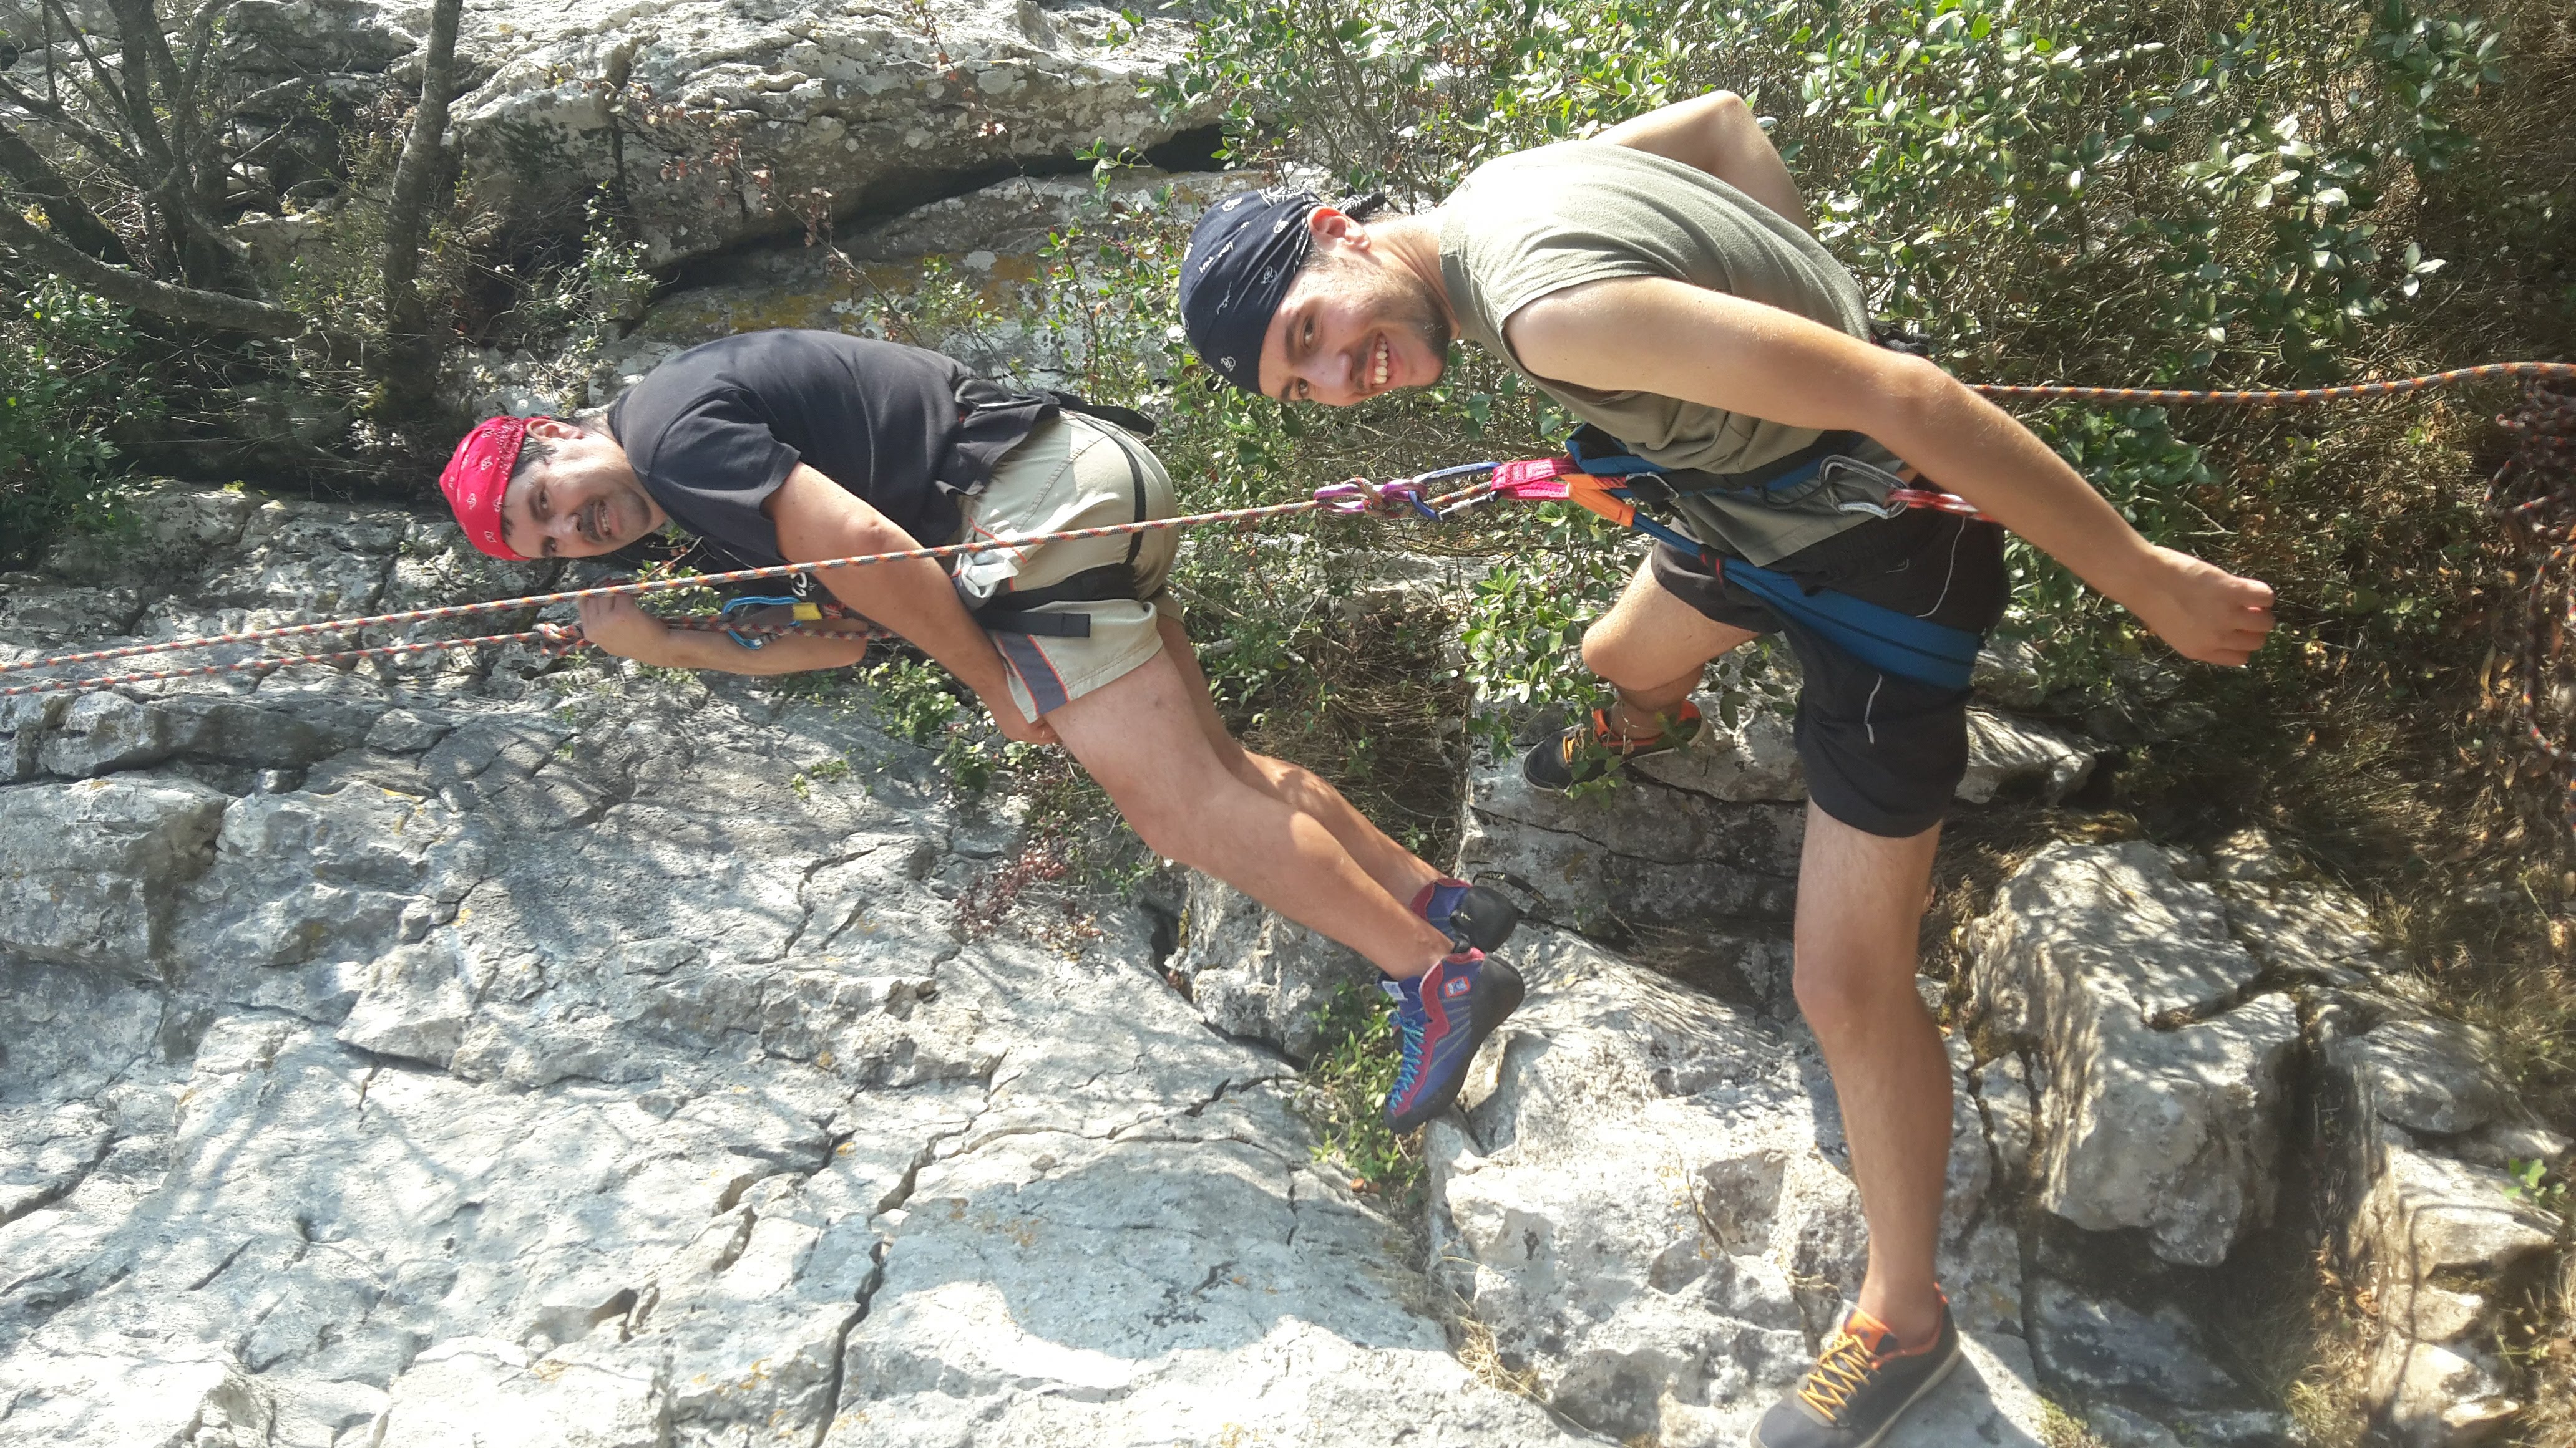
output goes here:
[[[1695, 165], [1618, 142], [1561, 142], [1476, 167], [1440, 204], [1440, 276], [1471, 343], [1667, 469], [1749, 472], [1814, 443], [1816, 433], [1654, 392], [1535, 376], [1502, 340], [1512, 312], [1587, 281], [1667, 276], [1870, 335], [1860, 283], [1816, 237]], [[1891, 461], [1875, 446], [1862, 456]], [[1842, 495], [1829, 487], [1775, 502], [1692, 497], [1682, 513], [1700, 541], [1767, 564], [1868, 520], [1837, 510]]]

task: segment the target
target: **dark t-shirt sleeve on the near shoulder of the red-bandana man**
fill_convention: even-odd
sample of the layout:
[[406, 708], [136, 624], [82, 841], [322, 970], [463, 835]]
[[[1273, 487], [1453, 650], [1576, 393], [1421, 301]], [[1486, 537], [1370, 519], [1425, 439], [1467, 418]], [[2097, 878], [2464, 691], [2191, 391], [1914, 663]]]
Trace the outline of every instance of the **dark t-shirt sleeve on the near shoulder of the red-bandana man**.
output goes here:
[[[636, 389], [641, 394], [641, 386]], [[739, 386], [716, 386], [657, 410], [636, 397], [621, 417], [626, 459], [675, 523], [744, 559], [781, 562], [778, 528], [760, 505], [801, 461]]]

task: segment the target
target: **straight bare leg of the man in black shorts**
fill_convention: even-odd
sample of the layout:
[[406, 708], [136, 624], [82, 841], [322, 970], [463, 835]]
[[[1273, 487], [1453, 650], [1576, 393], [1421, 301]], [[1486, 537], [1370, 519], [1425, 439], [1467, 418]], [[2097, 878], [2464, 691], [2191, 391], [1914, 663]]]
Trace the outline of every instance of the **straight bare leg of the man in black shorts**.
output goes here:
[[1950, 1167], [1950, 1059], [1914, 995], [1914, 946], [1940, 824], [1868, 835], [1806, 806], [1798, 858], [1798, 1010], [1842, 1100], [1870, 1275], [1860, 1311], [1917, 1348], [1940, 1329], [1932, 1257]]

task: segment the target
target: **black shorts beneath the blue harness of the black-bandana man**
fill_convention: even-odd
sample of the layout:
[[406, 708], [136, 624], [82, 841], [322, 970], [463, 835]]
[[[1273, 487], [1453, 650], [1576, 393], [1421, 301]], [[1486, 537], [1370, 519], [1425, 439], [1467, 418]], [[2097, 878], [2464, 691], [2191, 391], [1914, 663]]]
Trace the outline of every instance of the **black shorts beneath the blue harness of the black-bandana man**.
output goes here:
[[[2004, 616], [2004, 528], [1914, 508], [1770, 564], [1808, 593], [1829, 587], [1899, 613], [1984, 634]], [[1654, 549], [1654, 582], [1718, 624], [1788, 634], [1806, 794], [1852, 830], [1904, 840], [1940, 824], [1968, 773], [1968, 691], [1880, 672], [1723, 582], [1700, 554]]]

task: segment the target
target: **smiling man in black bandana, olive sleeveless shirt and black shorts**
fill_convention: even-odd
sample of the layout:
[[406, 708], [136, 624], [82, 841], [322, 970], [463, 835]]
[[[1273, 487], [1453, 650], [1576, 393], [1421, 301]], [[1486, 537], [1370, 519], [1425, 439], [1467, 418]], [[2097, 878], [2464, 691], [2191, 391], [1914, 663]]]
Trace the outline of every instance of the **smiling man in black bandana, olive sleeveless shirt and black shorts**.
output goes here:
[[1965, 660], [2009, 593], [1996, 523], [1891, 492], [1919, 472], [1968, 497], [2192, 660], [2246, 662], [2272, 590], [2146, 544], [2012, 417], [1873, 345], [1860, 286], [1728, 93], [1492, 160], [1422, 216], [1296, 191], [1221, 201], [1180, 307], [1211, 368], [1283, 402], [1432, 384], [1463, 335], [1582, 417], [1579, 446], [1664, 469], [1672, 541], [1584, 636], [1618, 698], [1530, 750], [1530, 783], [1680, 747], [1705, 665], [1788, 636], [1808, 778], [1795, 995], [1834, 1074], [1870, 1262], [1752, 1443], [1880, 1443], [1958, 1363], [1935, 1281], [1950, 1069], [1914, 940], [1968, 757]]

